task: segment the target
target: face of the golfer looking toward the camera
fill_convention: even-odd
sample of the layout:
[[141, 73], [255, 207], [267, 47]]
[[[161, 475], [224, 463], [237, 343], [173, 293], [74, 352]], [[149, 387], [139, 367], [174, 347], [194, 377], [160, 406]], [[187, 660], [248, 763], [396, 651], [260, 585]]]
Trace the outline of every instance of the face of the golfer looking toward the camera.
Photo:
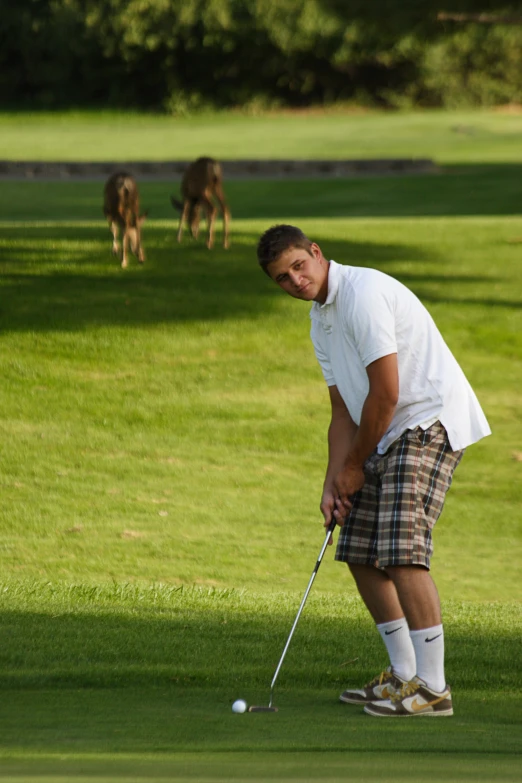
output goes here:
[[324, 304], [328, 295], [328, 261], [319, 245], [312, 243], [310, 253], [299, 247], [285, 250], [268, 266], [272, 280], [295, 299]]

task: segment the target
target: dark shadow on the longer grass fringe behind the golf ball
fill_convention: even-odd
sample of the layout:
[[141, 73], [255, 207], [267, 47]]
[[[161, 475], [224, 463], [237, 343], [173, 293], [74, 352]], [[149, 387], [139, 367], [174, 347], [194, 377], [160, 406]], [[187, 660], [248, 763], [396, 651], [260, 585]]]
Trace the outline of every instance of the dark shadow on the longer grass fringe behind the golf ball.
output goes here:
[[[294, 619], [295, 607], [287, 600], [288, 609], [269, 612], [233, 599], [220, 606], [219, 598], [207, 608], [173, 601], [171, 609], [148, 612], [4, 609], [0, 688], [267, 686]], [[348, 603], [335, 616], [317, 607], [303, 616], [280, 685], [338, 687], [347, 678], [367, 681], [383, 668], [385, 651], [369, 617], [357, 599]], [[471, 632], [446, 613], [451, 682], [485, 692], [509, 690], [514, 668], [522, 663], [518, 633], [495, 627], [494, 607], [473, 611], [484, 615], [484, 627]]]

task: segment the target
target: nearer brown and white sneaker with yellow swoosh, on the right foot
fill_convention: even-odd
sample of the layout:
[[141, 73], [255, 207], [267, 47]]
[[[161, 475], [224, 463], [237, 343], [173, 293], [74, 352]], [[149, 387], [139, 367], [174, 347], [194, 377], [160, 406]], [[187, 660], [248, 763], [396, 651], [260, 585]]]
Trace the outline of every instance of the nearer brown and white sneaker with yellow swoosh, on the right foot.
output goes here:
[[453, 715], [451, 690], [446, 685], [442, 693], [432, 691], [424, 680], [414, 677], [392, 694], [388, 701], [373, 701], [364, 711], [382, 718], [413, 718], [426, 715], [437, 718]]

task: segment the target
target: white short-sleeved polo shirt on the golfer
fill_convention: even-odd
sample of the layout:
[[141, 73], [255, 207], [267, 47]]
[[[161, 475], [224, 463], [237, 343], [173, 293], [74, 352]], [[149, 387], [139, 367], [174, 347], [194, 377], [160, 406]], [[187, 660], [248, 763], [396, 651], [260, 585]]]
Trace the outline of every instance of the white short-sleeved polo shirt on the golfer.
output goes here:
[[330, 261], [328, 297], [310, 311], [311, 337], [324, 379], [337, 386], [360, 423], [368, 395], [366, 367], [396, 353], [399, 401], [378, 444], [386, 449], [407, 429], [439, 420], [451, 448], [491, 434], [479, 402], [435, 322], [414, 293], [376, 269]]

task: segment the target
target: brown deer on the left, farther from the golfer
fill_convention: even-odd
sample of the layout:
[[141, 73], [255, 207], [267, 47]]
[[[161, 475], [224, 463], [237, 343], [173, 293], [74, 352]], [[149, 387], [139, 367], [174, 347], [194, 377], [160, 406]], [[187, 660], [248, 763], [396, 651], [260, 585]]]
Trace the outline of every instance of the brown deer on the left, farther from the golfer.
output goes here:
[[128, 247], [137, 257], [140, 264], [145, 261], [145, 253], [141, 244], [141, 225], [147, 213], [140, 215], [140, 197], [136, 180], [125, 171], [111, 174], [103, 191], [103, 214], [109, 221], [112, 231], [112, 252], [120, 255], [118, 235], [123, 231], [121, 243], [121, 265], [128, 266]]

